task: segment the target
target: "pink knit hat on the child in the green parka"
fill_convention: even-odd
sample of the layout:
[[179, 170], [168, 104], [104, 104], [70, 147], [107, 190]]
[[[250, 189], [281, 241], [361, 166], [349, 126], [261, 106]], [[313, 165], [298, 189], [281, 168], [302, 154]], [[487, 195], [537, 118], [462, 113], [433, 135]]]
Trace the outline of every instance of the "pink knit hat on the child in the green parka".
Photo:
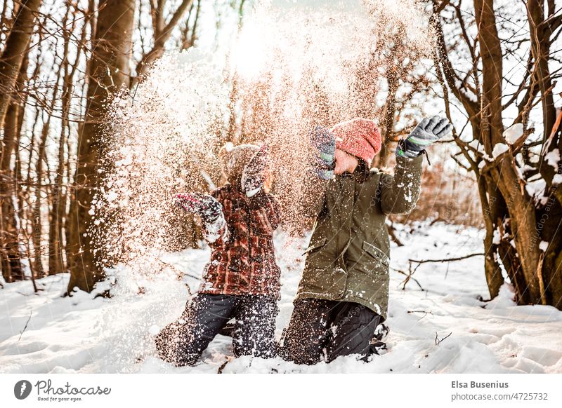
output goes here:
[[336, 137], [336, 149], [362, 158], [369, 167], [374, 155], [381, 150], [381, 132], [374, 121], [355, 118], [330, 129]]

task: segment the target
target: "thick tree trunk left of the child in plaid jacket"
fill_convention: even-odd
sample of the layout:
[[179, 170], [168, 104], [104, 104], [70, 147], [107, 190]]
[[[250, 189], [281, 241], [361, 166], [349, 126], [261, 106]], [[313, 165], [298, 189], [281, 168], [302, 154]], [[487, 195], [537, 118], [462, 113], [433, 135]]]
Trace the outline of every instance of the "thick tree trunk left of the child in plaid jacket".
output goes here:
[[100, 0], [93, 43], [86, 120], [79, 129], [75, 194], [69, 213], [67, 257], [70, 268], [68, 291], [74, 287], [90, 292], [104, 278], [101, 261], [103, 245], [91, 226], [93, 196], [96, 193], [103, 147], [102, 132], [107, 104], [122, 88], [129, 86], [129, 59], [135, 13], [134, 0]]

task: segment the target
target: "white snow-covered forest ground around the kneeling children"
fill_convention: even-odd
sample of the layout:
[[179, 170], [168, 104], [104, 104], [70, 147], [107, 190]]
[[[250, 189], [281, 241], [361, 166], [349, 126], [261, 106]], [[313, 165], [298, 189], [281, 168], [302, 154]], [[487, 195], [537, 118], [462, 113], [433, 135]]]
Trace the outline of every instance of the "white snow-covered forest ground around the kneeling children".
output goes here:
[[[400, 233], [405, 246], [393, 245], [391, 266], [407, 271], [407, 259], [439, 259], [482, 252], [483, 231], [462, 226], [419, 224]], [[292, 299], [303, 267], [304, 239], [276, 238], [282, 267], [282, 299], [277, 336], [287, 326]], [[184, 273], [201, 276], [208, 249], [169, 254], [164, 261]], [[67, 274], [0, 289], [0, 372], [217, 372], [232, 355], [230, 338], [217, 336], [196, 367], [177, 368], [155, 357], [152, 338], [178, 318], [197, 279], [176, 279], [169, 269], [153, 279], [133, 279], [118, 271], [111, 299], [79, 292], [61, 297]], [[238, 358], [223, 372], [562, 372], [562, 312], [551, 306], [516, 306], [509, 285], [488, 299], [482, 257], [450, 264], [422, 264], [413, 280], [391, 271], [391, 298], [386, 341], [389, 352], [370, 362], [342, 357], [329, 365], [308, 367], [279, 358]], [[106, 286], [108, 283], [105, 284]], [[138, 294], [138, 287], [145, 287]], [[29, 320], [29, 321], [28, 321]], [[26, 327], [27, 325], [27, 327]], [[446, 339], [445, 336], [448, 337]], [[436, 337], [443, 339], [436, 345]]]

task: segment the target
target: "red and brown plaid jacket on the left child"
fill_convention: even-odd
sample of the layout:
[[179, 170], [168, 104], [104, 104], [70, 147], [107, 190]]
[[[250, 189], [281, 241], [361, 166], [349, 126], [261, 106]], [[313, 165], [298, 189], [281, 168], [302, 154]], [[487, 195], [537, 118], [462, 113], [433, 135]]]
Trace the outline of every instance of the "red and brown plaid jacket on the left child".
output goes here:
[[273, 231], [280, 208], [269, 193], [247, 198], [231, 184], [211, 193], [223, 205], [227, 231], [213, 243], [200, 293], [279, 297], [281, 271], [275, 262]]

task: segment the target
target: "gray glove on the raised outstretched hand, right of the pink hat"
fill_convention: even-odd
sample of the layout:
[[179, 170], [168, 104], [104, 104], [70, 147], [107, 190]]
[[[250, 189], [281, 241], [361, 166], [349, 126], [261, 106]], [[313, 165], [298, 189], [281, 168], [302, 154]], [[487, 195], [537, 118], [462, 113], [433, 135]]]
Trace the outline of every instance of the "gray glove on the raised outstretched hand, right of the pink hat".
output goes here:
[[396, 148], [396, 156], [417, 157], [433, 142], [447, 135], [451, 130], [452, 125], [446, 118], [440, 118], [440, 116], [433, 116], [431, 119], [424, 118], [406, 140], [400, 139]]

